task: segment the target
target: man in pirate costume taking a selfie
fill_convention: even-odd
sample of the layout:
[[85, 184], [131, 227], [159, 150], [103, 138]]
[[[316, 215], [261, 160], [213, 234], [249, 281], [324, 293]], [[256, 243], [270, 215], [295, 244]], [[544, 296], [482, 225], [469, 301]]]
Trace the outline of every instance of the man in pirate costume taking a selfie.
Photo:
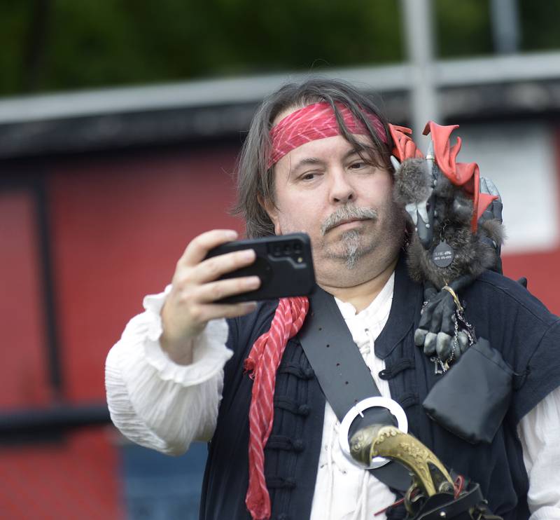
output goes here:
[[[402, 261], [391, 149], [386, 121], [349, 85], [286, 85], [260, 107], [241, 153], [247, 233], [308, 233], [318, 285], [335, 296], [379, 392], [406, 409], [414, 435], [479, 482], [496, 514], [528, 518], [529, 504], [533, 519], [560, 519], [559, 320], [520, 285], [484, 273], [461, 297], [477, 334], [516, 372], [510, 409], [491, 444], [468, 444], [426, 416], [421, 403], [438, 376], [414, 345], [423, 292]], [[106, 364], [113, 422], [165, 453], [211, 439], [201, 519], [371, 518], [395, 494], [340, 452], [339, 423], [297, 336], [311, 319], [305, 301], [214, 303], [260, 283], [218, 280], [251, 264], [252, 251], [204, 260], [235, 238], [214, 230], [190, 242], [172, 285], [128, 324]]]

